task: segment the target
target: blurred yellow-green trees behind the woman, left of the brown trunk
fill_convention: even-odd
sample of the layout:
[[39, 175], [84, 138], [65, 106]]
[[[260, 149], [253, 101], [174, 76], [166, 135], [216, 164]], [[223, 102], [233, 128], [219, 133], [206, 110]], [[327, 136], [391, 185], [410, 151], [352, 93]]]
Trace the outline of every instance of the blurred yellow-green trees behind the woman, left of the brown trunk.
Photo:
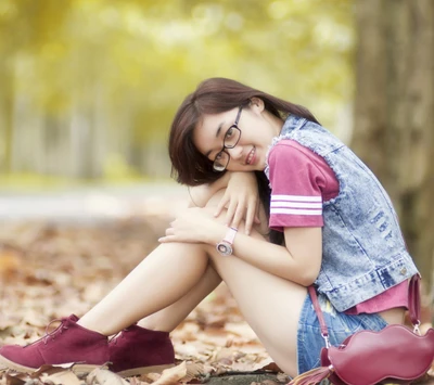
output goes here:
[[307, 105], [353, 95], [353, 1], [1, 0], [0, 174], [169, 176], [177, 106], [206, 77]]

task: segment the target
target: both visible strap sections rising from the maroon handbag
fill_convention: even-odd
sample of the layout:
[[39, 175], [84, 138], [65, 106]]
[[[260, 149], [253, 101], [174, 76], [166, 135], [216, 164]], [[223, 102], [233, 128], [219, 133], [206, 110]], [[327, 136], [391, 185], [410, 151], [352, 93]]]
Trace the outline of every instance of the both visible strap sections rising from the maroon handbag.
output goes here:
[[[410, 283], [408, 285], [408, 310], [410, 313], [411, 323], [414, 326], [414, 332], [419, 331], [420, 325], [420, 279], [419, 273], [411, 277]], [[326, 346], [329, 347], [329, 331], [324, 321], [324, 316], [322, 313], [321, 307], [319, 306], [317, 291], [314, 285], [308, 287], [310, 299], [314, 304], [315, 312], [317, 313], [319, 324], [321, 328], [321, 335], [326, 339]]]

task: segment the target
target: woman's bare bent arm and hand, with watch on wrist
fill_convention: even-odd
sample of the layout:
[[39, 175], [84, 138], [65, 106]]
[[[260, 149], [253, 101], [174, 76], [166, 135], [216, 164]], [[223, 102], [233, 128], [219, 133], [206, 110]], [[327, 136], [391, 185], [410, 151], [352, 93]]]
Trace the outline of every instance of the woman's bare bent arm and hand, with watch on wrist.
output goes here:
[[[228, 231], [221, 216], [216, 220], [209, 208], [191, 208], [181, 214], [166, 236], [159, 242], [190, 242], [215, 245]], [[319, 274], [322, 257], [322, 230], [318, 228], [285, 228], [286, 246], [267, 242], [254, 231], [252, 236], [239, 231], [233, 242], [234, 256], [221, 258], [241, 258], [271, 274], [296, 282], [303, 286], [310, 285]]]

